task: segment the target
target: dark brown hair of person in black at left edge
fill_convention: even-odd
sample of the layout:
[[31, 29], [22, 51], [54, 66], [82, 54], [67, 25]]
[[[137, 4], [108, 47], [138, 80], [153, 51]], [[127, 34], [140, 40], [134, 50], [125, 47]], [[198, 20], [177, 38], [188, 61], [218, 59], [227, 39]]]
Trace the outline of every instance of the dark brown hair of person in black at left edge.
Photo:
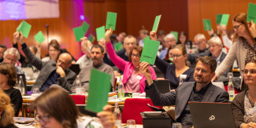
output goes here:
[[0, 74], [8, 75], [7, 85], [15, 86], [17, 82], [17, 71], [13, 64], [2, 63], [0, 64]]

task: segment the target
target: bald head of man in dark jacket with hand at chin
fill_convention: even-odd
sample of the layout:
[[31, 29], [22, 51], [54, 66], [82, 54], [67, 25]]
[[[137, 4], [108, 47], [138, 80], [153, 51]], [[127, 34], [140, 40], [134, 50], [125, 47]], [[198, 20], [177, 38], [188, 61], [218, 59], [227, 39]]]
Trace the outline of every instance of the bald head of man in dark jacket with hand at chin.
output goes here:
[[56, 66], [60, 66], [63, 70], [69, 68], [71, 66], [72, 57], [69, 53], [61, 53], [60, 57], [58, 57]]

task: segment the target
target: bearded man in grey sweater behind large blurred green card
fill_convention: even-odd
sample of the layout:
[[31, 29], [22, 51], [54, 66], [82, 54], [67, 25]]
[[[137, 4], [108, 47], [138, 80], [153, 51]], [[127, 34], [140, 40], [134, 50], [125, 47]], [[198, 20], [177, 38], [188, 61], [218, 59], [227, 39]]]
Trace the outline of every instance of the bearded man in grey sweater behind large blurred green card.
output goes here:
[[[104, 49], [100, 45], [94, 45], [91, 47], [91, 61], [92, 65], [87, 65], [82, 68], [82, 70], [79, 73], [79, 78], [76, 78], [76, 80], [80, 80], [81, 86], [85, 89], [85, 91], [88, 91], [89, 88], [89, 81], [91, 76], [91, 68], [95, 68], [98, 71], [105, 72], [109, 75], [111, 75], [111, 83], [112, 86], [114, 86], [115, 77], [113, 75], [113, 68], [111, 68], [108, 64], [103, 63], [103, 57], [104, 57]], [[76, 92], [76, 80], [72, 85], [72, 93]]]

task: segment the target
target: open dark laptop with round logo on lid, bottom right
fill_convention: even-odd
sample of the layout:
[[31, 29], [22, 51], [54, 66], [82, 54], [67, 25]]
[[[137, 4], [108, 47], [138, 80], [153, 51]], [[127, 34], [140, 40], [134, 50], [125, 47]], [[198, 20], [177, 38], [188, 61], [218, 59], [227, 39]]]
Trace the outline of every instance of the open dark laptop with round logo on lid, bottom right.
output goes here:
[[196, 128], [234, 128], [231, 103], [188, 102], [193, 126]]

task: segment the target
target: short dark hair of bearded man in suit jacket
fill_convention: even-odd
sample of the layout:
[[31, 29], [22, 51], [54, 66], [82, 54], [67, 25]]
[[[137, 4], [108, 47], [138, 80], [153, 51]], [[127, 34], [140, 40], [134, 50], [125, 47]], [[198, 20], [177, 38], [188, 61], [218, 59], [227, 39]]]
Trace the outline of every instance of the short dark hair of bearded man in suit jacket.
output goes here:
[[196, 63], [198, 63], [198, 61], [202, 62], [203, 64], [210, 64], [210, 70], [212, 72], [214, 72], [217, 68], [217, 62], [213, 57], [209, 57], [209, 56], [198, 57], [198, 59], [196, 60]]

